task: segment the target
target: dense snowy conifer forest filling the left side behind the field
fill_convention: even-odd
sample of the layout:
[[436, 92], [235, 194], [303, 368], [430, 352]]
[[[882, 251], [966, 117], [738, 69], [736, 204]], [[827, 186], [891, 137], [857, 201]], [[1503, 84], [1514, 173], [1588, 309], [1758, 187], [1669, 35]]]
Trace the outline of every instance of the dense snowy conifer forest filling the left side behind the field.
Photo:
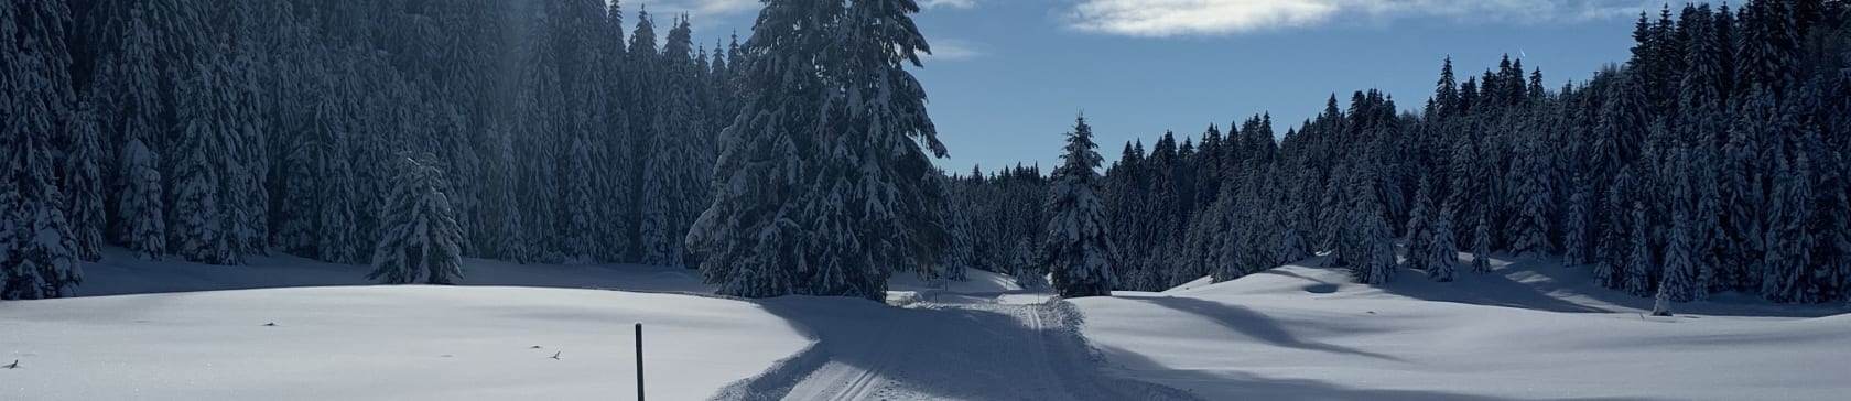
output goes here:
[[[0, 2], [0, 299], [74, 294], [104, 246], [692, 266], [742, 52], [661, 28], [603, 0]], [[405, 231], [431, 222], [455, 235]]]

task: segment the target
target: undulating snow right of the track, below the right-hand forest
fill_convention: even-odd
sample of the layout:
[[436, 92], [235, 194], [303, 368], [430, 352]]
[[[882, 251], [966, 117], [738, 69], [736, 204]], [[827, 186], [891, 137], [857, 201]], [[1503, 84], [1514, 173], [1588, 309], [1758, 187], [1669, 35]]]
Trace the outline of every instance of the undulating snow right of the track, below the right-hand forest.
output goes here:
[[[1551, 262], [1385, 288], [1285, 266], [1229, 283], [1085, 298], [1085, 334], [1116, 375], [1205, 399], [1840, 399], [1851, 314], [1681, 303], [1596, 288]], [[1820, 318], [1823, 316], [1823, 318]]]

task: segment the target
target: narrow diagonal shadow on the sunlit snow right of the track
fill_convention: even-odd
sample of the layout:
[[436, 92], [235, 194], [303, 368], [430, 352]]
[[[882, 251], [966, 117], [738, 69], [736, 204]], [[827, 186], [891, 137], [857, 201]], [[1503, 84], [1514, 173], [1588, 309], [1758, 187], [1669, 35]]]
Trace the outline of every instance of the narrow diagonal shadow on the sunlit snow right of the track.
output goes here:
[[1279, 323], [1279, 320], [1275, 320], [1272, 316], [1266, 316], [1266, 314], [1262, 314], [1259, 310], [1238, 307], [1238, 305], [1227, 305], [1227, 303], [1218, 303], [1218, 301], [1205, 301], [1205, 299], [1196, 299], [1196, 298], [1144, 298], [1144, 299], [1138, 299], [1138, 301], [1146, 301], [1146, 303], [1151, 303], [1151, 305], [1166, 307], [1166, 309], [1172, 309], [1172, 310], [1177, 310], [1177, 312], [1196, 314], [1196, 316], [1201, 316], [1201, 318], [1205, 318], [1209, 322], [1214, 322], [1214, 323], [1218, 323], [1222, 327], [1227, 327], [1229, 331], [1236, 331], [1240, 334], [1246, 334], [1246, 336], [1251, 336], [1255, 340], [1261, 340], [1261, 342], [1266, 342], [1266, 344], [1272, 344], [1272, 346], [1279, 346], [1279, 347], [1294, 347], [1294, 349], [1323, 351], [1323, 353], [1342, 353], [1342, 355], [1357, 355], [1357, 357], [1368, 357], [1368, 358], [1407, 362], [1407, 360], [1403, 360], [1399, 357], [1394, 357], [1394, 355], [1372, 353], [1372, 351], [1362, 351], [1362, 349], [1336, 346], [1336, 344], [1299, 340], [1296, 334], [1292, 334], [1290, 331], [1286, 331], [1285, 325]]

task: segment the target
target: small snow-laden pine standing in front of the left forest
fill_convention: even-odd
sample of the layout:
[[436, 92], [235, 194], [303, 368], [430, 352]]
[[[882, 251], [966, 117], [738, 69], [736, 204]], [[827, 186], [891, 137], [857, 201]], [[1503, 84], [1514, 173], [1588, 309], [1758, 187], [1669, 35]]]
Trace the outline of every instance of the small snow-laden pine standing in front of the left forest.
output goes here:
[[450, 205], [450, 183], [426, 155], [398, 157], [385, 229], [372, 249], [372, 273], [387, 285], [455, 285], [463, 279], [463, 229]]

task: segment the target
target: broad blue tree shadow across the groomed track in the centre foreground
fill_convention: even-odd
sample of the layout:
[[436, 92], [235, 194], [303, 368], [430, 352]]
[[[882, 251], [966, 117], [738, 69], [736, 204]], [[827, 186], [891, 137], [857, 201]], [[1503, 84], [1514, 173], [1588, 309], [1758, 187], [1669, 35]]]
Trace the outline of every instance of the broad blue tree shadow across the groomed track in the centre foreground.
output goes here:
[[[713, 399], [785, 399], [818, 383], [857, 381], [851, 375], [831, 377], [840, 370], [829, 364], [870, 371], [894, 390], [926, 399], [1159, 399], [1137, 383], [1088, 375], [1096, 364], [1083, 346], [1048, 340], [1059, 334], [1057, 322], [1029, 327], [1014, 314], [987, 309], [888, 307], [831, 298], [755, 303], [792, 327], [803, 327], [816, 344], [759, 377], [722, 388]], [[1070, 333], [1077, 338], [1077, 329]], [[898, 394], [877, 397], [883, 395]]]

